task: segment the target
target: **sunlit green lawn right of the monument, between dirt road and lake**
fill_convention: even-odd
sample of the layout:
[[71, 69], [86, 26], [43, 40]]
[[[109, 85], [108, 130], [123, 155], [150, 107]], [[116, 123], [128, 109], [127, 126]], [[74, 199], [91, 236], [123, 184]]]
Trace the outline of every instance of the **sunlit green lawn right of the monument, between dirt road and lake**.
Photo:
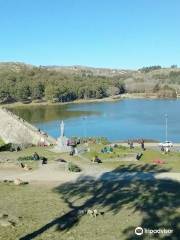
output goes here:
[[[101, 149], [105, 145], [102, 144], [91, 144], [90, 152], [84, 153], [83, 156], [89, 161], [97, 155], [102, 161], [102, 166], [109, 169], [114, 169], [120, 166], [130, 166], [135, 164], [137, 166], [153, 166], [154, 160], [161, 159], [165, 161], [165, 164], [158, 165], [158, 169], [171, 172], [180, 172], [180, 153], [170, 152], [164, 154], [158, 150], [146, 150], [143, 151], [143, 156], [139, 161], [135, 161], [136, 154], [142, 152], [142, 149], [136, 147], [134, 149], [129, 149], [128, 147], [114, 148], [113, 153], [101, 153]], [[125, 159], [134, 159], [132, 161], [125, 161]], [[148, 168], [145, 168], [145, 171]]]

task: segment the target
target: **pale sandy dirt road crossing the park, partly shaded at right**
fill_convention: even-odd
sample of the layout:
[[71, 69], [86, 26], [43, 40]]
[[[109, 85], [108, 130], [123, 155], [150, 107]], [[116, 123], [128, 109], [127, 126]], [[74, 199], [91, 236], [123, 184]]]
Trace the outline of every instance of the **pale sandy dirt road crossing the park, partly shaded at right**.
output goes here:
[[180, 181], [180, 173], [164, 172], [164, 173], [145, 173], [145, 172], [112, 172], [108, 169], [102, 168], [95, 163], [80, 164], [82, 172], [72, 173], [67, 170], [65, 163], [49, 163], [47, 165], [40, 165], [34, 171], [25, 171], [20, 168], [1, 168], [0, 181], [14, 180], [19, 178], [29, 183], [64, 183], [69, 181], [76, 181], [79, 177], [92, 177], [94, 179], [101, 179], [105, 181], [118, 180], [156, 180], [156, 179], [171, 179]]

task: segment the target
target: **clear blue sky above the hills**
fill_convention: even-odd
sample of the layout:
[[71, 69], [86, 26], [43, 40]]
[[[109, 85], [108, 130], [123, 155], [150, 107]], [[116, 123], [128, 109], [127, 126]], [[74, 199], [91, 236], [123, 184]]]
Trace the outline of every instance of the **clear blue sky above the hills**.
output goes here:
[[0, 0], [0, 61], [180, 65], [180, 1]]

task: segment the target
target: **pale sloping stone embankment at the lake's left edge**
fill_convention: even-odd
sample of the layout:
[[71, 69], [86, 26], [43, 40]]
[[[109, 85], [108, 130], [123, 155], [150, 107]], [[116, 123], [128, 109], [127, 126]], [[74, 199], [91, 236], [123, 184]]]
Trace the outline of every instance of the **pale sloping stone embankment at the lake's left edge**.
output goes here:
[[5, 143], [51, 145], [56, 140], [5, 108], [0, 108], [0, 137]]

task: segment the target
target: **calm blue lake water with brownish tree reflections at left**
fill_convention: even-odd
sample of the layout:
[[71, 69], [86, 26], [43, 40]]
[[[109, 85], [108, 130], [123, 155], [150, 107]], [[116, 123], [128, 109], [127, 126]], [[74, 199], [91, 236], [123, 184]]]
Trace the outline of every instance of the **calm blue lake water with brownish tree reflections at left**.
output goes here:
[[104, 136], [109, 140], [145, 138], [180, 142], [179, 100], [121, 100], [118, 102], [17, 107], [14, 113], [48, 134], [59, 136], [64, 120], [67, 136]]

